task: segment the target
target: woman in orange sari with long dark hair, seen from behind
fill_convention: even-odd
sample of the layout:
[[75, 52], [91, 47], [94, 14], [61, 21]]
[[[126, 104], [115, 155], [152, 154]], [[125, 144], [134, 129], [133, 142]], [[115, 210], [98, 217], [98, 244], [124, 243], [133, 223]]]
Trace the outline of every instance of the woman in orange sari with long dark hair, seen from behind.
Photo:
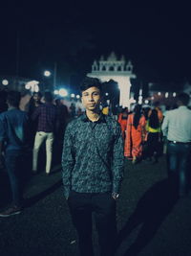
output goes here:
[[142, 142], [146, 135], [146, 120], [141, 114], [141, 106], [136, 105], [134, 112], [128, 116], [124, 155], [135, 164], [142, 155]]

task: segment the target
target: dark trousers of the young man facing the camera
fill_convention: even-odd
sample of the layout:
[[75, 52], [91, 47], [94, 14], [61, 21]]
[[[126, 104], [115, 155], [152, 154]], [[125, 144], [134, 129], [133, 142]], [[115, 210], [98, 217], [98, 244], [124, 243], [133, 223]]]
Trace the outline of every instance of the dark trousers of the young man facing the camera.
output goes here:
[[80, 255], [94, 255], [93, 213], [95, 213], [100, 255], [114, 255], [117, 239], [116, 200], [112, 198], [111, 192], [89, 194], [72, 191], [68, 203], [74, 227], [78, 233]]

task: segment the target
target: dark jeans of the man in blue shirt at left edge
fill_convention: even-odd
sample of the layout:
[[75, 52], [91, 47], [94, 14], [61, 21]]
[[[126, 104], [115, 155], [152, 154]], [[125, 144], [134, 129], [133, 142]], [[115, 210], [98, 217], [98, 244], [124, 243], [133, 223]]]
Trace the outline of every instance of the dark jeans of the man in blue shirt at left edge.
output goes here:
[[[12, 204], [22, 206], [26, 172], [29, 169], [29, 155], [21, 151], [6, 152], [5, 162], [11, 184]], [[28, 165], [27, 165], [28, 164]]]

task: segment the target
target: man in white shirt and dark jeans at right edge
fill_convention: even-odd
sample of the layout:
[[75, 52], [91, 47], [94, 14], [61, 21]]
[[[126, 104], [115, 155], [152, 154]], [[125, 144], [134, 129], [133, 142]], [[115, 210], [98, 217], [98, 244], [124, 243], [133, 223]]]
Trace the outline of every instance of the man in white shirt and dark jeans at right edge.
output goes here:
[[167, 137], [167, 168], [171, 192], [182, 197], [189, 193], [189, 160], [191, 156], [191, 110], [190, 97], [178, 95], [178, 108], [166, 112], [162, 123], [163, 136]]

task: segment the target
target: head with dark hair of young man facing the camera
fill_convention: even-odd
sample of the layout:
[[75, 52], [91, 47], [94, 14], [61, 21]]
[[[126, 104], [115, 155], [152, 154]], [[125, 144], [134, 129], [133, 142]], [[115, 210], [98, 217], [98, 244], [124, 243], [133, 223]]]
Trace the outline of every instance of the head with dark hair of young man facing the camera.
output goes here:
[[101, 81], [86, 77], [80, 85], [81, 101], [87, 110], [96, 111], [101, 101]]

